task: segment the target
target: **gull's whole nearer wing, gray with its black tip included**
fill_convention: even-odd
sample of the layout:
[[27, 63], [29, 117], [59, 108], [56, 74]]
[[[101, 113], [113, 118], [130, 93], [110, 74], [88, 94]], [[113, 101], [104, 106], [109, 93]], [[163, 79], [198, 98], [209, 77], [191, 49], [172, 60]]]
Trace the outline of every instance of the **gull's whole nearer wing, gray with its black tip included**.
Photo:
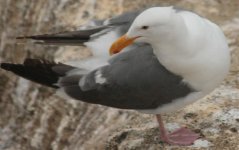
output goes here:
[[160, 64], [149, 45], [135, 46], [89, 73], [38, 59], [26, 59], [24, 64], [1, 63], [0, 67], [37, 83], [62, 88], [74, 99], [123, 109], [157, 108], [194, 91]]

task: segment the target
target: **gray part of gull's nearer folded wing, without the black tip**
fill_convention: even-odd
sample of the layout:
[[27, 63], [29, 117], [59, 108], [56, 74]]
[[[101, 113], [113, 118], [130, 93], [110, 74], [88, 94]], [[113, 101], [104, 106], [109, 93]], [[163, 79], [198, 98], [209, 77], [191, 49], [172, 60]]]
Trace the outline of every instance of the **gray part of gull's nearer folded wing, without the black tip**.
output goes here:
[[[105, 79], [97, 82], [97, 77]], [[66, 79], [67, 80], [67, 79]], [[153, 109], [191, 93], [182, 78], [166, 70], [144, 45], [117, 55], [110, 65], [94, 70], [71, 86], [71, 97], [122, 109]]]

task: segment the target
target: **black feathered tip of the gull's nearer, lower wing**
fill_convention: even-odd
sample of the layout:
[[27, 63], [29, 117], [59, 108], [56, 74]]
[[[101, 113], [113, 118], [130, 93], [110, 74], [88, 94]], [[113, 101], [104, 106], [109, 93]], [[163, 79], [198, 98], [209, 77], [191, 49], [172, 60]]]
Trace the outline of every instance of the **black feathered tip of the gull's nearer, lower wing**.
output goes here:
[[56, 85], [59, 78], [74, 69], [62, 63], [30, 58], [25, 59], [23, 64], [0, 63], [0, 68], [51, 88], [59, 88]]

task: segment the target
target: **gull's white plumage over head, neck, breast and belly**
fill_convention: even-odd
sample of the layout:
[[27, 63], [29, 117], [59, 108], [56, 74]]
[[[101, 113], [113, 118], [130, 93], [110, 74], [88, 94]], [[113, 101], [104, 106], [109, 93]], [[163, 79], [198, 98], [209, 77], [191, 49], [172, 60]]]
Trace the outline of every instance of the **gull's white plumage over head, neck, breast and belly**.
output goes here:
[[145, 113], [180, 109], [214, 90], [229, 71], [230, 52], [221, 29], [192, 12], [150, 8], [135, 19], [126, 35], [151, 44], [160, 63], [197, 91]]

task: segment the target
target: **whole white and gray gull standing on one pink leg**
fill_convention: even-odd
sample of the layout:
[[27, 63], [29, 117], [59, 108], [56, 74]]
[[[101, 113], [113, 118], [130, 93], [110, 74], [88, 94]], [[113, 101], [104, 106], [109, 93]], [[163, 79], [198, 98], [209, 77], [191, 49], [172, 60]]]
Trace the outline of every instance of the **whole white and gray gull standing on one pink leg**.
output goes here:
[[152, 7], [95, 20], [77, 31], [18, 37], [40, 44], [79, 45], [92, 56], [78, 66], [41, 59], [1, 68], [87, 103], [155, 114], [160, 140], [192, 145], [197, 133], [168, 133], [161, 115], [212, 92], [229, 72], [230, 52], [221, 29], [191, 11]]

